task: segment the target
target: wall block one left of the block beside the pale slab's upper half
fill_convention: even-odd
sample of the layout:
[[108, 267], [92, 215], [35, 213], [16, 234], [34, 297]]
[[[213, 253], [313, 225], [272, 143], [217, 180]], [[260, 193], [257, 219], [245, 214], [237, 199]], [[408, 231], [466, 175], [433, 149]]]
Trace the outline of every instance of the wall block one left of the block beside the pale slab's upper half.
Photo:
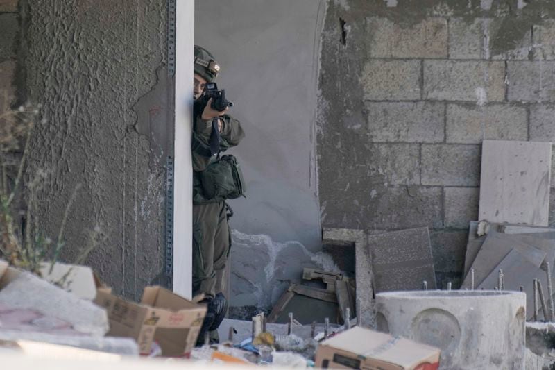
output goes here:
[[368, 144], [368, 169], [382, 174], [387, 185], [420, 184], [418, 144]]

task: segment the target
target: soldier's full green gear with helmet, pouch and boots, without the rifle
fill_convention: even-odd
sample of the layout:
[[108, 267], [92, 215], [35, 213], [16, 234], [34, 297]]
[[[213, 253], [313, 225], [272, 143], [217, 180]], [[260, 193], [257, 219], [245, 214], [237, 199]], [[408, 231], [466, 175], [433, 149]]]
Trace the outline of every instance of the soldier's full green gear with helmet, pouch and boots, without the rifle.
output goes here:
[[[206, 49], [194, 49], [194, 106], [193, 139], [193, 294], [205, 294], [201, 303], [207, 312], [200, 328], [197, 344], [202, 344], [205, 333], [211, 342], [219, 342], [218, 327], [228, 310], [223, 294], [223, 271], [230, 253], [231, 235], [228, 207], [225, 199], [244, 193], [241, 171], [231, 155], [219, 159], [219, 152], [239, 144], [244, 137], [237, 119], [222, 115], [217, 119], [202, 119], [207, 104], [202, 77], [212, 83], [219, 73], [219, 65]], [[200, 77], [198, 77], [198, 76]], [[214, 87], [211, 87], [213, 89]], [[213, 91], [213, 90], [211, 90]], [[221, 96], [222, 97], [222, 96]], [[216, 99], [217, 101], [217, 99]], [[210, 112], [213, 115], [214, 110]], [[219, 129], [218, 123], [221, 124]]]

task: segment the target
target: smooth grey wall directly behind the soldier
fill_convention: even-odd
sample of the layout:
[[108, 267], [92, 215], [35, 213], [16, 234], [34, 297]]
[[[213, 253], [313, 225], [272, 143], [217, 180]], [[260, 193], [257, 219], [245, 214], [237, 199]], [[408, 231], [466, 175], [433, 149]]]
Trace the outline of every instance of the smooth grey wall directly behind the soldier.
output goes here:
[[[195, 42], [222, 66], [246, 138], [233, 149], [247, 198], [231, 201], [232, 316], [271, 308], [322, 253], [316, 186], [316, 78], [325, 1], [196, 1]], [[241, 308], [246, 312], [241, 313]]]

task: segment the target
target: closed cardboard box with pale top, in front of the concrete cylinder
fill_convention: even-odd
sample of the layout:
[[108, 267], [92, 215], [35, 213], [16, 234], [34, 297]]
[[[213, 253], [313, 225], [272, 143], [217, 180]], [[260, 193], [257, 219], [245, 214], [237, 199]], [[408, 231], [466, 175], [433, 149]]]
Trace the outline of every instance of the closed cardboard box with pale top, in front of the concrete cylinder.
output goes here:
[[316, 351], [323, 369], [436, 370], [438, 348], [358, 326], [325, 340]]

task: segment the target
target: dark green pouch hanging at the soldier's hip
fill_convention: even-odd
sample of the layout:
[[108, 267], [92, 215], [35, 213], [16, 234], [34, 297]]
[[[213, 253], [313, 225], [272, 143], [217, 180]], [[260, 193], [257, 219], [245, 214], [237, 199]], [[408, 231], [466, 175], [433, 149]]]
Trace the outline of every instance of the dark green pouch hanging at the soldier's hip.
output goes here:
[[237, 158], [223, 155], [201, 172], [206, 199], [236, 199], [245, 196], [245, 181]]

